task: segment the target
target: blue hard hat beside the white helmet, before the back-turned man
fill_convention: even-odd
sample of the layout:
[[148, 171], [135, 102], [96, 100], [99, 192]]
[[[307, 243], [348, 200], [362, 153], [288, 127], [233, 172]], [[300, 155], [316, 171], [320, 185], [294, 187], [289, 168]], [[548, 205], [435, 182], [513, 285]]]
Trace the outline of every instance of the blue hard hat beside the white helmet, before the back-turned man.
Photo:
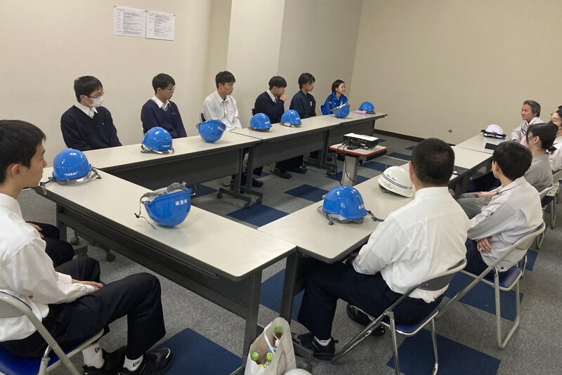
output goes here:
[[360, 192], [351, 186], [338, 186], [330, 190], [324, 198], [322, 212], [344, 220], [358, 220], [367, 216]]

